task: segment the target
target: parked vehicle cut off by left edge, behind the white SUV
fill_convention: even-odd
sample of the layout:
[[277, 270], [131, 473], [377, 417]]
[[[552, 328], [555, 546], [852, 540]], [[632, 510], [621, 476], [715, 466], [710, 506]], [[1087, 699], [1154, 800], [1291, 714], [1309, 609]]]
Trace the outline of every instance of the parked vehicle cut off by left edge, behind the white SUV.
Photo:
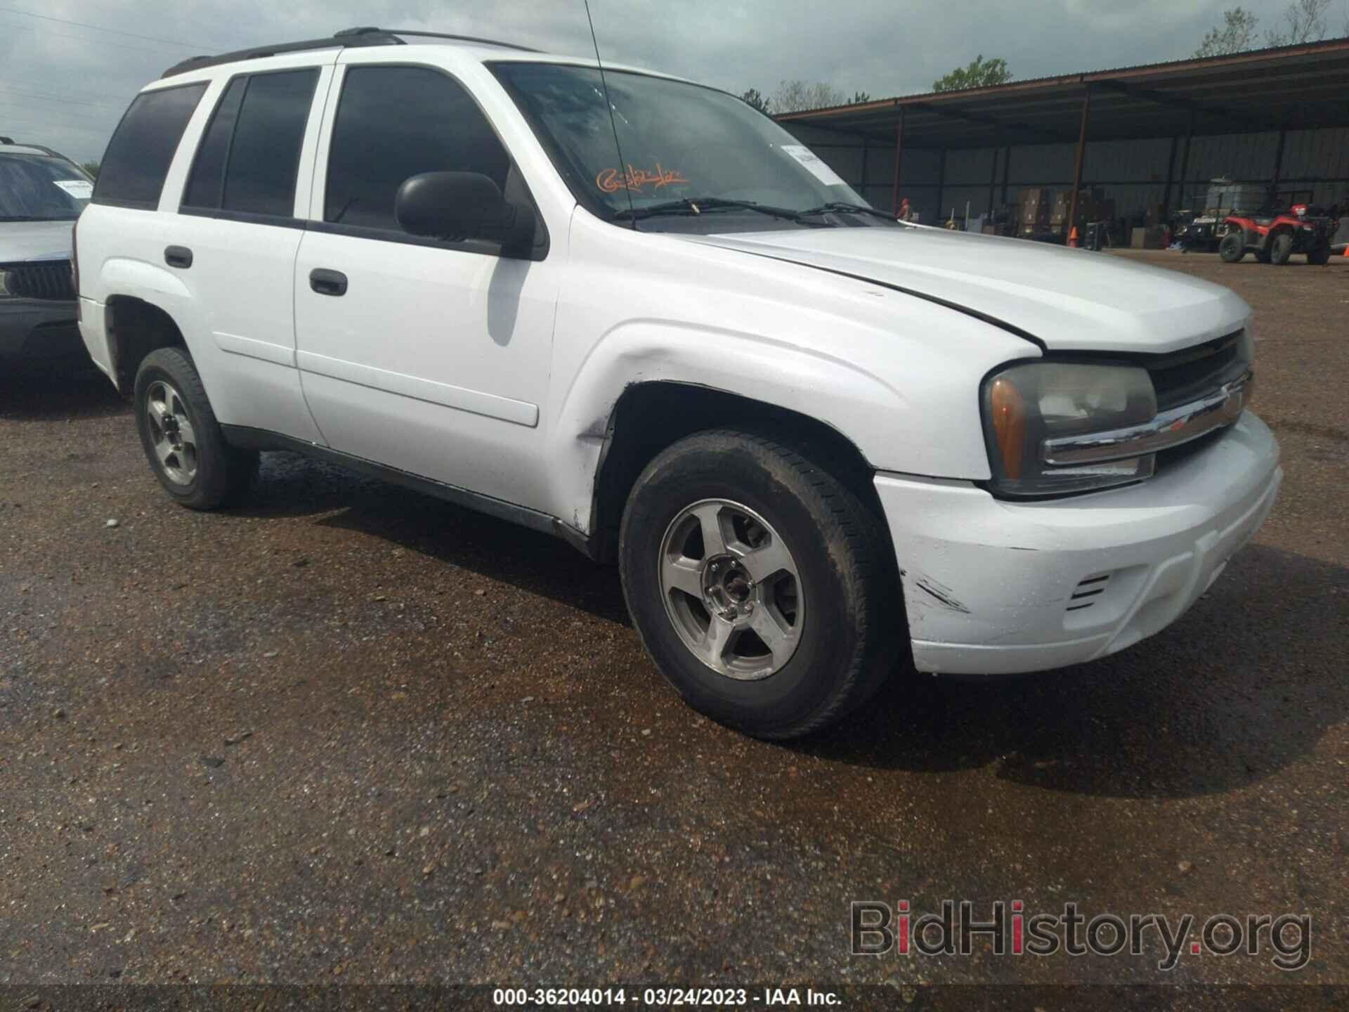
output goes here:
[[92, 193], [69, 158], [0, 138], [0, 360], [84, 354], [70, 250]]

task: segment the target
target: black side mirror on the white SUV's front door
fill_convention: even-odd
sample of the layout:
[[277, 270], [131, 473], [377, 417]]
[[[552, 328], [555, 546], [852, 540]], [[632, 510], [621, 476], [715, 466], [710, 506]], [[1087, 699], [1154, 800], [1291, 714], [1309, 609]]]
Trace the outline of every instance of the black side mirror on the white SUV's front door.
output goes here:
[[394, 198], [394, 217], [410, 235], [490, 239], [510, 256], [529, 256], [534, 243], [534, 209], [507, 204], [500, 188], [482, 173], [421, 173], [405, 179]]

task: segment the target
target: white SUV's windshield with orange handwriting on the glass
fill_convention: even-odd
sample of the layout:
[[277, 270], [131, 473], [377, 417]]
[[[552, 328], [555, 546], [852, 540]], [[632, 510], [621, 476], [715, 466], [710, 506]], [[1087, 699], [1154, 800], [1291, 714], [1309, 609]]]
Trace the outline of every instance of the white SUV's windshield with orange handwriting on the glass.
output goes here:
[[[500, 62], [492, 70], [576, 198], [608, 221], [679, 228], [681, 217], [715, 210], [715, 231], [886, 224], [809, 148], [724, 92], [606, 70], [610, 123], [594, 67]], [[839, 217], [839, 204], [862, 213]]]

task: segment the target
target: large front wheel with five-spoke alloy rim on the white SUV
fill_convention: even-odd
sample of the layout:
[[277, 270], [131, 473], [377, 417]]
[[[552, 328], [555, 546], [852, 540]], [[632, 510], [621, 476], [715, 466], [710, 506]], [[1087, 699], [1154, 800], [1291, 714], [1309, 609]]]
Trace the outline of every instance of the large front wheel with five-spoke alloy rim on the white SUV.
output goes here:
[[[758, 738], [797, 738], [857, 708], [907, 642], [884, 521], [824, 456], [696, 433], [648, 464], [623, 511], [623, 595], [648, 653], [695, 710]], [[718, 529], [720, 552], [707, 537]], [[670, 586], [674, 569], [685, 590]], [[723, 606], [741, 609], [739, 629], [718, 653], [707, 631], [727, 621], [712, 614]]]

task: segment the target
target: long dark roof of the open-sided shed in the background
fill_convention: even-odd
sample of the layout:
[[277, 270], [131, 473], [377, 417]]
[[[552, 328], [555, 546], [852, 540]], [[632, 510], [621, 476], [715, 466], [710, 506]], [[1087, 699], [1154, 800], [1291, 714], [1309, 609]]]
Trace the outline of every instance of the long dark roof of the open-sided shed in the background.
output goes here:
[[956, 148], [1349, 125], [1349, 38], [809, 109], [782, 123]]

